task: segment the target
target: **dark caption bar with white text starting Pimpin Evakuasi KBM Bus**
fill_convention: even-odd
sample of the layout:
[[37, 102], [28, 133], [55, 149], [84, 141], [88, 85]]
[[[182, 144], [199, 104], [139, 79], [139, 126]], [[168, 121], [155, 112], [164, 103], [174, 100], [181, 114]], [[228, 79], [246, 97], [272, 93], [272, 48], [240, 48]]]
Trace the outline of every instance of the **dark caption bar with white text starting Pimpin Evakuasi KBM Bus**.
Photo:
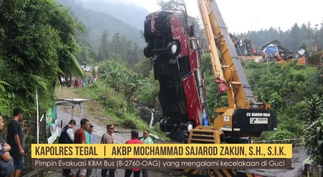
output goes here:
[[33, 169], [291, 169], [291, 159], [32, 159]]

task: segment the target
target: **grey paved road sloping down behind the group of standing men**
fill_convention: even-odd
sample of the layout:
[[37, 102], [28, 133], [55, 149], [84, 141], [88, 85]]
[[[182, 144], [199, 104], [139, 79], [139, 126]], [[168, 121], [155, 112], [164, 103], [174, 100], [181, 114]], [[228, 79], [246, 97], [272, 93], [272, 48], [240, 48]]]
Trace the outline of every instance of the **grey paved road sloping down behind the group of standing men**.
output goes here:
[[[90, 123], [93, 124], [93, 133], [95, 138], [95, 143], [101, 142], [101, 137], [104, 133], [107, 132], [106, 125], [99, 125], [98, 123], [95, 123], [94, 118], [84, 117], [89, 119]], [[73, 128], [73, 132], [75, 132], [79, 127], [79, 117], [74, 116], [74, 119], [76, 120], [76, 126]], [[61, 121], [63, 122], [63, 127], [68, 124], [68, 122], [71, 120], [71, 113], [63, 110], [60, 106], [57, 107], [57, 121], [58, 126], [61, 126]], [[114, 137], [116, 140], [116, 143], [126, 143], [127, 140], [130, 139], [130, 130], [127, 129], [118, 129], [116, 127], [116, 130], [122, 130], [122, 133], [114, 133]], [[60, 133], [60, 132], [59, 132]], [[139, 136], [142, 136], [142, 133], [139, 134]], [[101, 175], [101, 169], [98, 170], [97, 175], [100, 177]], [[167, 170], [167, 169], [161, 169], [161, 170], [149, 170], [149, 176], [150, 177], [172, 177], [172, 176], [182, 176], [182, 171], [174, 171], [174, 170]], [[96, 171], [92, 170], [92, 176], [96, 176]], [[56, 171], [50, 173], [47, 177], [62, 177], [62, 170], [56, 169]], [[116, 173], [116, 177], [124, 177], [124, 170], [118, 169]]]

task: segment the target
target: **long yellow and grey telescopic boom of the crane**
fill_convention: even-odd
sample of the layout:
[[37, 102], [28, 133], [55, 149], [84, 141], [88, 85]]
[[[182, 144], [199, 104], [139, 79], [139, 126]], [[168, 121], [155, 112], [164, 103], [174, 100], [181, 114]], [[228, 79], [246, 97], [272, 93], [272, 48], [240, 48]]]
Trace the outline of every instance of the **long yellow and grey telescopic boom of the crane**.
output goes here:
[[[229, 107], [248, 109], [255, 103], [255, 97], [220, 10], [214, 0], [198, 0], [198, 5], [219, 91], [224, 91], [222, 83], [225, 83]], [[222, 64], [217, 49], [222, 55]]]

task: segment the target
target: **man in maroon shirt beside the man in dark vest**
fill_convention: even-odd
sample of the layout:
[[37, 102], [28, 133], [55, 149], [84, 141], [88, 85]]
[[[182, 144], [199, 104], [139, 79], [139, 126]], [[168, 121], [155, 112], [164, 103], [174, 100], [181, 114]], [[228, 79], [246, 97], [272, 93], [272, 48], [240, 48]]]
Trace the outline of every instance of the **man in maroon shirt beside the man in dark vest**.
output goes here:
[[[82, 119], [81, 127], [74, 133], [74, 144], [85, 144], [85, 132], [84, 130], [89, 129], [89, 120]], [[72, 169], [72, 177], [76, 177], [76, 173], [80, 170], [81, 177], [85, 177], [86, 169]]]

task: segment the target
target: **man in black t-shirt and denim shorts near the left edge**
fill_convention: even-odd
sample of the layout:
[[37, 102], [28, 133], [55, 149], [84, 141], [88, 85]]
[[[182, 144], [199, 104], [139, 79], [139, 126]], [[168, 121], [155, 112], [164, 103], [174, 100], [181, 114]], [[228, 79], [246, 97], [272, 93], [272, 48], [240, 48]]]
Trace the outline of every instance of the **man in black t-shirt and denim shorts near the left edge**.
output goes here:
[[14, 158], [15, 165], [15, 172], [10, 177], [19, 177], [24, 168], [24, 133], [19, 122], [23, 118], [23, 114], [22, 109], [14, 109], [14, 117], [7, 125], [7, 143], [11, 146], [10, 155]]

